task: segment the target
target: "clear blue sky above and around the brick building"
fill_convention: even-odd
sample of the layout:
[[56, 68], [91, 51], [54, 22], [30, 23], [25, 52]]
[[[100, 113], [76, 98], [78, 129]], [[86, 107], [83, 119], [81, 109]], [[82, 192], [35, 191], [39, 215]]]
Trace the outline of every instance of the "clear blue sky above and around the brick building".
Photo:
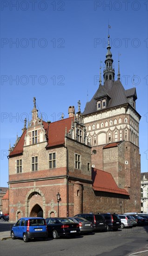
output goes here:
[[121, 54], [121, 82], [137, 91], [141, 172], [148, 171], [148, 1], [1, 0], [0, 14], [0, 186], [8, 186], [9, 142], [31, 120], [34, 96], [45, 121], [68, 117], [79, 100], [84, 111], [99, 86], [108, 20], [115, 75]]

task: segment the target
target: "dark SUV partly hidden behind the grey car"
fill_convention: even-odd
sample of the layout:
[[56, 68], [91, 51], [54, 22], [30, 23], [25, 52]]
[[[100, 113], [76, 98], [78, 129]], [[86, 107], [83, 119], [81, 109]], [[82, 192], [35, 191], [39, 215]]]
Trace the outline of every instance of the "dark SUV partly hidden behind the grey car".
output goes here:
[[77, 214], [74, 217], [83, 217], [87, 221], [92, 222], [93, 231], [95, 230], [103, 230], [106, 231], [106, 220], [102, 214], [94, 214], [94, 213], [81, 213]]

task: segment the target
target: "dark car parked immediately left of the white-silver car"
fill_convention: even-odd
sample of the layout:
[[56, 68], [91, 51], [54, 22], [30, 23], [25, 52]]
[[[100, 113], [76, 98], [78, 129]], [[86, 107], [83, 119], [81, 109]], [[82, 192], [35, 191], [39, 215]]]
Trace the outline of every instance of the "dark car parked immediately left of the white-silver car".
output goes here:
[[106, 219], [107, 231], [117, 231], [118, 229], [121, 228], [121, 219], [118, 216], [118, 214], [103, 213], [103, 216]]

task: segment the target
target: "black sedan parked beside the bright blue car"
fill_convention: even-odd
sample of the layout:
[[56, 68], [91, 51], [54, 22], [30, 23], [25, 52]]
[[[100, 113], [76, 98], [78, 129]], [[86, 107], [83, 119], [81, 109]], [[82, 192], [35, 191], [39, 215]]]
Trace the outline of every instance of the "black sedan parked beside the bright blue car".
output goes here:
[[80, 234], [79, 223], [75, 223], [68, 217], [47, 218], [46, 223], [48, 235], [53, 236], [54, 239], [60, 236], [74, 237]]

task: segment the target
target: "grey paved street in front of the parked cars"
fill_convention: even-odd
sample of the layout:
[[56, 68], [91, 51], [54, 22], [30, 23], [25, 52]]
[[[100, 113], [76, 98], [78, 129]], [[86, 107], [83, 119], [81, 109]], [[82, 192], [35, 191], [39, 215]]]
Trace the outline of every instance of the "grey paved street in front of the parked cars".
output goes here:
[[[9, 223], [1, 223], [9, 225]], [[5, 233], [5, 231], [3, 232]], [[0, 241], [0, 256], [148, 256], [148, 226], [47, 241]]]

